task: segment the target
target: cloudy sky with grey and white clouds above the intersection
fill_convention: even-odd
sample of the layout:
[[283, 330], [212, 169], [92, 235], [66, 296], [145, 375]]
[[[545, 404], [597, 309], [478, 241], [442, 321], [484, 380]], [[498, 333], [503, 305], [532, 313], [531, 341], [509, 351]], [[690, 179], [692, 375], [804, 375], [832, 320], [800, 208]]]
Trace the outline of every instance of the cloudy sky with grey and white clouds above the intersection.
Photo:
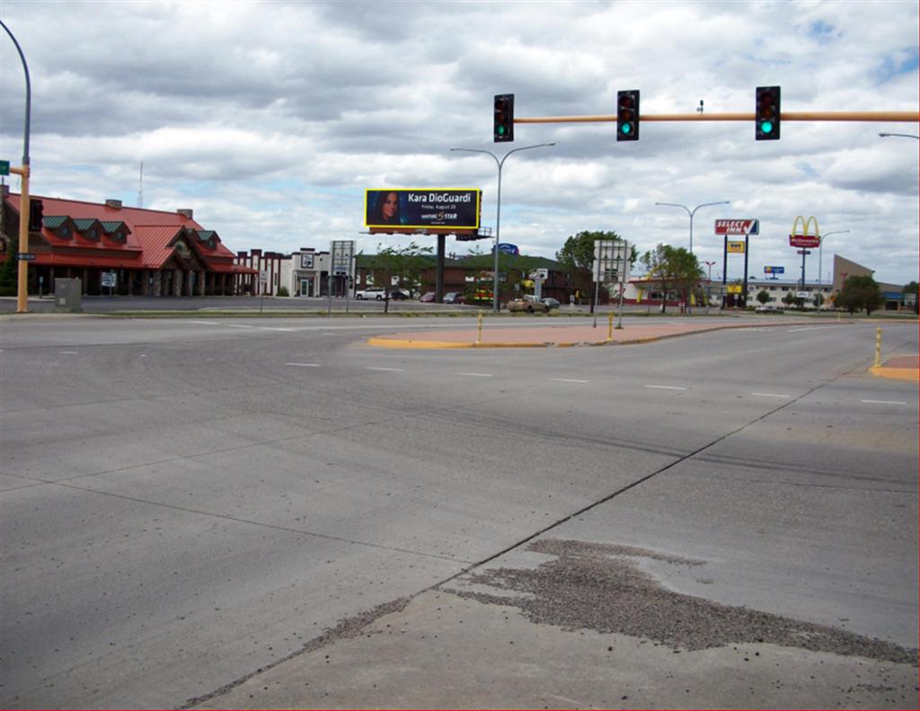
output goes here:
[[[784, 111], [917, 111], [918, 4], [861, 2], [46, 2], [0, 0], [32, 81], [31, 192], [90, 202], [190, 207], [231, 250], [359, 249], [408, 239], [362, 234], [369, 187], [483, 190], [489, 150], [510, 157], [501, 241], [555, 256], [581, 230], [615, 230], [640, 251], [693, 247], [722, 272], [716, 218], [758, 218], [751, 274], [782, 265], [796, 216], [815, 216], [832, 255], [905, 283], [918, 269], [916, 123], [518, 124], [492, 143], [492, 97], [518, 117], [609, 115], [617, 89], [645, 114], [753, 112], [780, 85]], [[22, 156], [24, 78], [0, 35], [0, 157]], [[7, 179], [9, 181], [9, 179]], [[17, 191], [17, 181], [10, 182]], [[843, 232], [843, 230], [849, 230]], [[416, 238], [434, 245], [434, 238]], [[466, 253], [487, 242], [447, 239]], [[815, 251], [807, 264], [818, 278]], [[732, 255], [729, 278], [743, 261]]]

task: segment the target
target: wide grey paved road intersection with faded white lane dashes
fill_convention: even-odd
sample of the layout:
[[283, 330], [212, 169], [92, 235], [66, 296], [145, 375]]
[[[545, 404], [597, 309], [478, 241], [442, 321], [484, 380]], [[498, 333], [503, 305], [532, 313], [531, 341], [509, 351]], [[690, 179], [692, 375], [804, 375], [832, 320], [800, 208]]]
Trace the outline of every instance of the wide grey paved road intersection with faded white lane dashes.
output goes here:
[[387, 329], [0, 323], [0, 704], [916, 705], [917, 390], [874, 324]]

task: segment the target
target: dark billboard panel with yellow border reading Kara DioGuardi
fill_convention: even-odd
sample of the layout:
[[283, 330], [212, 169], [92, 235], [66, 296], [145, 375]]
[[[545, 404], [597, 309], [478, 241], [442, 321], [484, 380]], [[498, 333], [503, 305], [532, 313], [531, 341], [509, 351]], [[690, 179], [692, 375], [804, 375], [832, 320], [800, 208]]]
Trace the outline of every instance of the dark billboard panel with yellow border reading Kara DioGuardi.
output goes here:
[[482, 191], [473, 188], [364, 191], [364, 225], [425, 229], [478, 229]]

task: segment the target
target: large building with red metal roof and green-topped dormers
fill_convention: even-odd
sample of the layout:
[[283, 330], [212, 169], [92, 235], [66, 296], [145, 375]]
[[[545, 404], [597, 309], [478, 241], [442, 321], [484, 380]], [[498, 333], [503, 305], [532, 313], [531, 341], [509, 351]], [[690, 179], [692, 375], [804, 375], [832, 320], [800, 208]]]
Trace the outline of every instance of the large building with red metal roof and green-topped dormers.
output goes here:
[[[18, 251], [19, 198], [4, 186], [0, 247]], [[132, 296], [229, 296], [252, 293], [258, 270], [236, 255], [191, 210], [175, 213], [31, 195], [41, 202], [41, 228], [29, 231], [29, 292], [53, 291], [55, 278], [82, 280], [85, 295], [107, 293], [102, 274], [116, 275], [113, 291]], [[0, 255], [6, 257], [6, 254]], [[110, 278], [110, 277], [109, 277]], [[109, 287], [105, 287], [108, 289]]]

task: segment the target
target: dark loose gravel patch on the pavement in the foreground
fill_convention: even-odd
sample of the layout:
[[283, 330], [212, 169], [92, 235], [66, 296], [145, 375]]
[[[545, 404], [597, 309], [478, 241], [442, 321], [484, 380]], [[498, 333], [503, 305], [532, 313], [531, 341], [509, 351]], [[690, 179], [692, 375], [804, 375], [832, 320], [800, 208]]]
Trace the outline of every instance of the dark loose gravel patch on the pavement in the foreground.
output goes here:
[[[917, 665], [917, 650], [821, 624], [723, 605], [664, 589], [636, 558], [701, 565], [640, 548], [545, 539], [529, 551], [556, 556], [534, 568], [494, 568], [466, 582], [505, 591], [456, 591], [461, 597], [512, 605], [536, 624], [643, 637], [675, 651], [768, 643]], [[509, 595], [511, 593], [511, 595]]]

